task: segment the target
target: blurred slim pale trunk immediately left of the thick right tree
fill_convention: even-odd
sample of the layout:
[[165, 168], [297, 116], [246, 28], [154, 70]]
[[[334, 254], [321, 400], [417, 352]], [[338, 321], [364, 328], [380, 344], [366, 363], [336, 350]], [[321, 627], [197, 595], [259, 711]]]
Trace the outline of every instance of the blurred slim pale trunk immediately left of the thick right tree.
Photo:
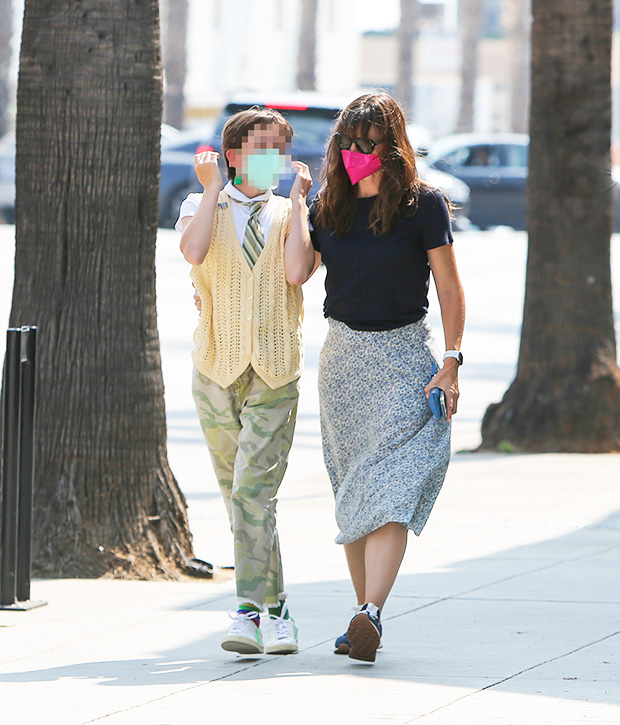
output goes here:
[[510, 120], [514, 133], [528, 133], [530, 112], [531, 0], [507, 0], [505, 28], [510, 53]]

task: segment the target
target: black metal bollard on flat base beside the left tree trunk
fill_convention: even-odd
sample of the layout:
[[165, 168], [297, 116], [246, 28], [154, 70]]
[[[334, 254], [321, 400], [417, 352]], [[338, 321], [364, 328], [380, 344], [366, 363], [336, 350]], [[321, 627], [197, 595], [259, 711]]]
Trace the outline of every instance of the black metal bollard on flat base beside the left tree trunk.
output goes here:
[[36, 327], [7, 330], [0, 609], [14, 611], [46, 604], [30, 599], [36, 332]]

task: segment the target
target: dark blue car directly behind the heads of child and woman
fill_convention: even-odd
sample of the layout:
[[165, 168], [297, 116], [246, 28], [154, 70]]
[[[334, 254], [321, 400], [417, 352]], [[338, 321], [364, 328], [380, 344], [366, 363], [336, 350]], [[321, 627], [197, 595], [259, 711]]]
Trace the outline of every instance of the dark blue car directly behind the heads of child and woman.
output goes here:
[[[346, 105], [348, 99], [331, 98], [315, 93], [299, 93], [288, 97], [236, 97], [226, 104], [220, 114], [215, 132], [209, 137], [203, 129], [184, 131], [177, 139], [162, 150], [161, 186], [159, 197], [159, 222], [170, 227], [176, 221], [181, 201], [191, 192], [201, 191], [202, 187], [194, 174], [194, 152], [203, 144], [221, 152], [222, 129], [226, 121], [235, 113], [252, 106], [262, 105], [274, 108], [288, 118], [295, 131], [292, 151], [310, 167], [313, 185], [309, 198], [319, 189], [320, 171], [325, 155], [325, 144], [332, 125]], [[430, 136], [428, 131], [419, 127], [408, 127], [416, 148], [418, 140], [427, 147]], [[184, 170], [184, 165], [186, 169]], [[224, 165], [222, 164], [222, 172]], [[469, 189], [467, 185], [453, 176], [431, 169], [424, 161], [418, 163], [418, 173], [429, 184], [440, 188], [455, 205], [456, 226], [462, 222], [469, 208]], [[280, 179], [277, 192], [288, 196], [293, 183], [293, 175]]]

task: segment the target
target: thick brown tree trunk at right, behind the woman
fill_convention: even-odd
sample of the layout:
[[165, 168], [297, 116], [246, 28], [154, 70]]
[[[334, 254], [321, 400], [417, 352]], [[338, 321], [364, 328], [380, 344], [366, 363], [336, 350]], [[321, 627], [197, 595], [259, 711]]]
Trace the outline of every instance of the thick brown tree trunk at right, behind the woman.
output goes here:
[[534, 0], [529, 253], [517, 375], [483, 448], [620, 450], [611, 298], [612, 0]]

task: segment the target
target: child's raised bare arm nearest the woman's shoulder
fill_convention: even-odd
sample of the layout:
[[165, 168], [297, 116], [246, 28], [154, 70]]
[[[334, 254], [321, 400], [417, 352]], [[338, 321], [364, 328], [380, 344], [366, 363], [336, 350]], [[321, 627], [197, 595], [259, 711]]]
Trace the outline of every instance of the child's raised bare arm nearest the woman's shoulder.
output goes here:
[[301, 285], [312, 276], [317, 268], [316, 252], [310, 241], [308, 229], [308, 207], [306, 196], [312, 186], [312, 177], [306, 164], [294, 163], [293, 171], [297, 178], [291, 189], [293, 202], [291, 231], [284, 245], [284, 272], [289, 284]]

